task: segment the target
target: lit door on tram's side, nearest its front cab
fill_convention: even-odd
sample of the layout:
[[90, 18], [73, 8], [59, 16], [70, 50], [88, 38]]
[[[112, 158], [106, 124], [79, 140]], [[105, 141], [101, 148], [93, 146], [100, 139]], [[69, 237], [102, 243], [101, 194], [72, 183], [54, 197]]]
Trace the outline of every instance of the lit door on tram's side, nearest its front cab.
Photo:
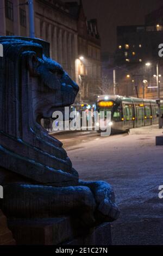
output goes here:
[[124, 104], [124, 126], [126, 129], [130, 129], [134, 127], [134, 108], [132, 104]]

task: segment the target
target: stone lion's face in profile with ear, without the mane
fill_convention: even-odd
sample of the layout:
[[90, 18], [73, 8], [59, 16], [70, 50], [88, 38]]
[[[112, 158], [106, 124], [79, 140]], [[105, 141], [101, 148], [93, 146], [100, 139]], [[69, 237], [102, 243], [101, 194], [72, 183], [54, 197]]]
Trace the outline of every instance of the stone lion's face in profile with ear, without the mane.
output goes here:
[[37, 58], [33, 52], [27, 54], [30, 74], [39, 79], [39, 84], [33, 89], [36, 119], [51, 118], [54, 111], [72, 105], [79, 87], [59, 63], [44, 54], [42, 58]]

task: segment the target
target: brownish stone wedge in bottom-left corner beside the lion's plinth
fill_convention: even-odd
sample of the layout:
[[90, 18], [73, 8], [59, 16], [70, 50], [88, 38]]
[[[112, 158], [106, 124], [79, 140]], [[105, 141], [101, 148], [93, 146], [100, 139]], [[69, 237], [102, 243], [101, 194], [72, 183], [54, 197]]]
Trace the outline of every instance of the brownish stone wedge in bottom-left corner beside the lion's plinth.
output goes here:
[[7, 226], [7, 218], [0, 210], [0, 245], [15, 245], [11, 231]]

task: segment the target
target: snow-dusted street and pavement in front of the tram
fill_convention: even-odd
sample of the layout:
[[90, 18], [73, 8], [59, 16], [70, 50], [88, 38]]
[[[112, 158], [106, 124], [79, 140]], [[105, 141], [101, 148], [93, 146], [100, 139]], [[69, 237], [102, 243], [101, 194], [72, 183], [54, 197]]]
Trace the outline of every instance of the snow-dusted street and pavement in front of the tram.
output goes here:
[[162, 147], [157, 126], [101, 137], [96, 132], [55, 135], [67, 150], [80, 179], [105, 180], [113, 187], [120, 218], [111, 224], [113, 245], [163, 242]]

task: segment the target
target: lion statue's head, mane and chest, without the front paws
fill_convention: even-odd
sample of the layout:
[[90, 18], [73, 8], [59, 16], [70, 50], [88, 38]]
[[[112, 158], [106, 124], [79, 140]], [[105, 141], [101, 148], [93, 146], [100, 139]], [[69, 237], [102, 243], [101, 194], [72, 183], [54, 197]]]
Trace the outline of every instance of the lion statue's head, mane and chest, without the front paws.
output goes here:
[[76, 184], [78, 173], [62, 143], [40, 120], [70, 106], [77, 84], [49, 58], [48, 42], [0, 36], [0, 44], [0, 166], [41, 183]]

